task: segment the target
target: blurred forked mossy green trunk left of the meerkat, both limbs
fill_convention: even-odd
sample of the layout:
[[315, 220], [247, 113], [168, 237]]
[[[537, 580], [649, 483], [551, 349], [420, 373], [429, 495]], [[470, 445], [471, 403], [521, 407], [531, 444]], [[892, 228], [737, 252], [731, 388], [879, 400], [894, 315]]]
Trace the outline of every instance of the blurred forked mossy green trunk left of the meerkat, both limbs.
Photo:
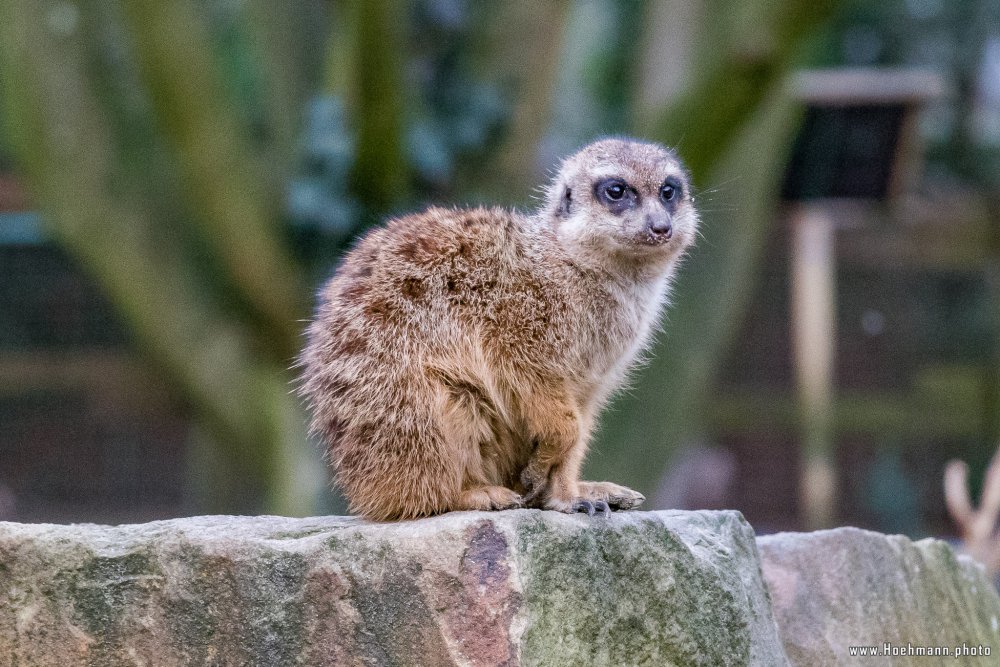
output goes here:
[[306, 290], [277, 224], [283, 178], [262, 175], [194, 5], [121, 9], [0, 7], [18, 164], [51, 236], [206, 425], [215, 475], [244, 480], [250, 508], [310, 513], [322, 482], [287, 372]]

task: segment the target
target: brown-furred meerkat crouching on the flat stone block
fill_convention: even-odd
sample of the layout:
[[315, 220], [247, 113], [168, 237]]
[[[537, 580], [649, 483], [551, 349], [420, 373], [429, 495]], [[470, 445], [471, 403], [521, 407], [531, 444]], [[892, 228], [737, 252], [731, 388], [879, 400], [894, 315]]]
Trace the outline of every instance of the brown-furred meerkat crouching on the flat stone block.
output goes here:
[[351, 511], [642, 503], [580, 468], [697, 226], [673, 151], [604, 139], [562, 163], [536, 212], [432, 207], [369, 232], [322, 289], [300, 360]]

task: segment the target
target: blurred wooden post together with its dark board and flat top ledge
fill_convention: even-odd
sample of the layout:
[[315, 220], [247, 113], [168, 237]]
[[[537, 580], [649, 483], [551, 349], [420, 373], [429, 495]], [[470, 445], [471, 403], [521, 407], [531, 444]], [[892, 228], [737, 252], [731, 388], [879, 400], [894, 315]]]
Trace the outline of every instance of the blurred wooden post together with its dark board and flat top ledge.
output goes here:
[[[921, 70], [840, 69], [800, 72], [795, 95], [809, 109], [827, 114], [872, 114], [869, 134], [853, 137], [846, 155], [857, 162], [867, 152], [866, 180], [845, 182], [839, 147], [829, 137], [800, 142], [789, 167], [784, 196], [797, 202], [791, 216], [792, 347], [802, 426], [801, 516], [807, 530], [827, 528], [836, 519], [837, 468], [833, 429], [833, 368], [836, 352], [836, 265], [834, 221], [829, 202], [835, 198], [891, 199], [906, 189], [916, 172], [916, 114], [944, 86], [933, 72]], [[896, 107], [895, 109], [893, 107]], [[892, 122], [902, 113], [899, 124]], [[843, 116], [855, 122], [857, 116]], [[871, 133], [875, 133], [872, 135]], [[887, 132], [894, 136], [887, 136]], [[882, 136], [876, 136], [881, 134]], [[860, 141], [871, 140], [865, 146]], [[858, 137], [861, 137], [859, 140]], [[800, 137], [803, 139], [803, 137]], [[852, 141], [850, 133], [841, 137]]]

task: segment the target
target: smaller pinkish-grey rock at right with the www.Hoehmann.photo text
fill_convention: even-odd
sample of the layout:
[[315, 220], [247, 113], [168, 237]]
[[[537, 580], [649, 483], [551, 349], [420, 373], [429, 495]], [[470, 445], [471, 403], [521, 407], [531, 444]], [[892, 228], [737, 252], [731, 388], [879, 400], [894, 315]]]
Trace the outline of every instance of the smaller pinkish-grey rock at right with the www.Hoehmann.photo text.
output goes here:
[[[982, 568], [939, 540], [857, 528], [758, 538], [785, 652], [795, 665], [1000, 664], [1000, 597]], [[937, 660], [918, 649], [946, 648]], [[955, 660], [954, 651], [968, 651]], [[990, 656], [982, 655], [984, 649]]]

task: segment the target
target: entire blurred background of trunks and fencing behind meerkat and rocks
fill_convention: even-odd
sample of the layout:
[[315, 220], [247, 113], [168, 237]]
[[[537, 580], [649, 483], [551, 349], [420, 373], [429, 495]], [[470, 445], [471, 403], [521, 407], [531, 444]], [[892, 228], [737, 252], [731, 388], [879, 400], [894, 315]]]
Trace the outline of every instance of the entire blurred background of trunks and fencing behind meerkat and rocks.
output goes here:
[[338, 258], [617, 133], [678, 148], [703, 238], [586, 476], [957, 534], [945, 463], [976, 497], [1000, 439], [1000, 0], [0, 0], [0, 519], [343, 512], [290, 370]]

